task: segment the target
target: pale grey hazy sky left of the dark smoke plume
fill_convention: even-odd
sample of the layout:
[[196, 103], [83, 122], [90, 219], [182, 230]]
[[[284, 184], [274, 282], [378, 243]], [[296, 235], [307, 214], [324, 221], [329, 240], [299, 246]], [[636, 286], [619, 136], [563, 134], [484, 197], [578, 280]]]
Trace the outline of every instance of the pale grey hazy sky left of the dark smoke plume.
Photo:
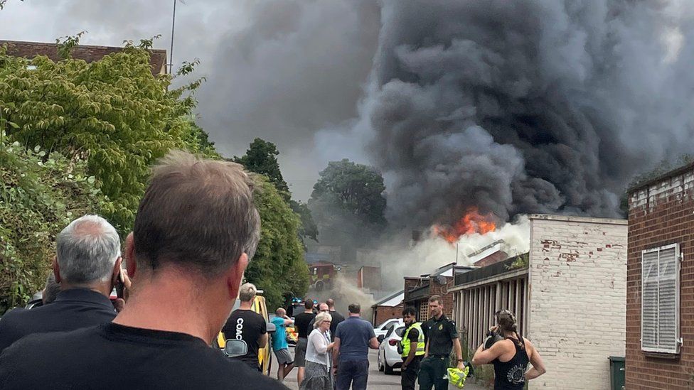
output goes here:
[[[85, 45], [161, 34], [171, 49], [171, 0], [9, 0], [0, 39]], [[361, 158], [317, 148], [314, 134], [356, 117], [378, 41], [374, 1], [178, 0], [173, 64], [198, 58], [198, 124], [224, 156], [260, 137], [277, 144], [294, 198], [306, 200], [328, 161]]]

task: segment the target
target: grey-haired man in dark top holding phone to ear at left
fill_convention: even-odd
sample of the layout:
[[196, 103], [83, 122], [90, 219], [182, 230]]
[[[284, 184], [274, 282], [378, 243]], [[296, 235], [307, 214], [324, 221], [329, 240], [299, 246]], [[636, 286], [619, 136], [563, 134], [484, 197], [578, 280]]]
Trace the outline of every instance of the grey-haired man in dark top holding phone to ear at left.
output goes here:
[[[116, 316], [109, 296], [119, 278], [120, 238], [107, 220], [85, 215], [63, 229], [53, 259], [55, 301], [31, 310], [16, 308], [0, 321], [0, 352], [26, 335], [64, 332], [110, 323]], [[44, 293], [48, 297], [50, 291]]]

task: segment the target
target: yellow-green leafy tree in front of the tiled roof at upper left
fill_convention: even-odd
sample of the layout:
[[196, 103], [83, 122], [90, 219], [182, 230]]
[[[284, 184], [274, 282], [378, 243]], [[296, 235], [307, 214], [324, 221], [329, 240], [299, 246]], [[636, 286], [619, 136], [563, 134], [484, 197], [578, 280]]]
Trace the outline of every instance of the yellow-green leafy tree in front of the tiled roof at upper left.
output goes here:
[[[65, 39], [65, 45], [78, 39]], [[149, 51], [130, 44], [89, 64], [25, 60], [0, 48], [0, 109], [11, 123], [8, 136], [25, 148], [43, 146], [44, 160], [59, 151], [87, 161], [87, 172], [114, 203], [106, 217], [122, 233], [132, 226], [151, 163], [171, 148], [216, 154], [190, 120], [195, 87], [170, 86], [171, 76], [151, 74]]]

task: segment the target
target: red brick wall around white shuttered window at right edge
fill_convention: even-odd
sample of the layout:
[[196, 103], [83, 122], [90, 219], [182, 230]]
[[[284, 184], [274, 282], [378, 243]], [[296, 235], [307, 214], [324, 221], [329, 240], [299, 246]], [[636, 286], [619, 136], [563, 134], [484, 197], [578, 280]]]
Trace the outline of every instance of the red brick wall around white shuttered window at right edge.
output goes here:
[[[679, 356], [641, 352], [641, 251], [680, 244]], [[626, 389], [694, 389], [694, 166], [629, 193]]]

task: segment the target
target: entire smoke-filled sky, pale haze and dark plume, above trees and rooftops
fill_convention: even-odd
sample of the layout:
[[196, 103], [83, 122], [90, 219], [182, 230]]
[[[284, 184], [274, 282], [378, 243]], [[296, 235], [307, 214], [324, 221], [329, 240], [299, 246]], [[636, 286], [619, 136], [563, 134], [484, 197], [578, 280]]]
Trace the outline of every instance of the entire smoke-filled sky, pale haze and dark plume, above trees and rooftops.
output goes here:
[[[690, 0], [177, 0], [174, 68], [224, 156], [260, 137], [306, 200], [328, 161], [385, 178], [389, 222], [471, 210], [623, 217], [636, 174], [694, 154]], [[0, 39], [122, 45], [173, 0], [9, 0]]]

